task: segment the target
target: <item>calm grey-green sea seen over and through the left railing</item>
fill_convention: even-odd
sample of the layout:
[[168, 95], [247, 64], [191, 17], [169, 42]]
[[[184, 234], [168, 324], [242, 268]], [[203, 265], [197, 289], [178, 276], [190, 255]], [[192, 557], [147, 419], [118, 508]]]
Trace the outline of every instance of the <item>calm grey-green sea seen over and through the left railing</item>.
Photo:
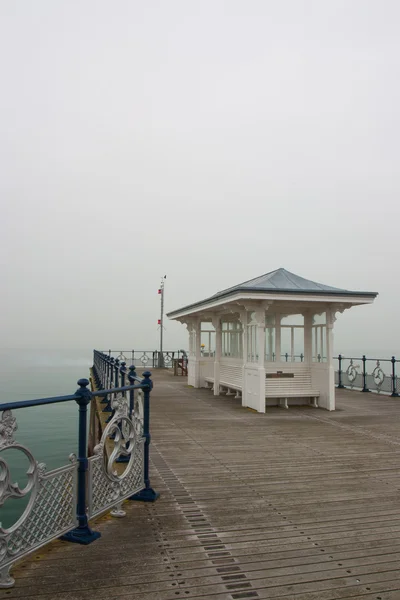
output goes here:
[[[88, 377], [92, 351], [82, 350], [0, 350], [0, 402], [14, 402], [73, 394], [78, 379]], [[14, 411], [18, 430], [15, 440], [29, 448], [47, 469], [68, 463], [78, 451], [78, 406], [65, 402], [47, 407]], [[28, 460], [13, 449], [1, 453], [11, 467], [11, 481], [26, 483]], [[2, 467], [0, 463], [0, 481]], [[0, 507], [3, 527], [12, 525], [22, 513], [27, 499], [6, 500]]]

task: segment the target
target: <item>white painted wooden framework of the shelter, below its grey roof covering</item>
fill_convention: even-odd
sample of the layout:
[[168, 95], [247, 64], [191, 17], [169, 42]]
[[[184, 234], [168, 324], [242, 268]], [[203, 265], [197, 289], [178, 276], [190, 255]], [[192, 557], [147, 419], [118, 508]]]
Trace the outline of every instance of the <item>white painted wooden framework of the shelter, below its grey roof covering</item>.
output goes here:
[[[344, 295], [340, 295], [342, 292], [339, 290], [337, 294], [331, 294], [328, 288], [325, 288], [321, 294], [314, 291], [306, 293], [302, 290], [293, 293], [291, 289], [286, 293], [232, 291], [232, 295], [228, 297], [217, 295], [193, 305], [192, 308], [189, 306], [175, 311], [171, 317], [188, 324], [189, 384], [195, 387], [213, 385], [216, 395], [219, 394], [220, 389], [227, 395], [236, 393], [236, 397], [241, 393], [242, 405], [259, 412], [265, 411], [266, 401], [269, 403], [277, 399], [285, 407], [309, 402], [315, 407], [319, 405], [327, 410], [334, 410], [332, 353], [335, 313], [343, 312], [351, 306], [371, 304], [374, 300], [374, 294], [346, 295], [343, 292]], [[327, 314], [325, 332], [319, 325], [312, 326], [313, 315], [322, 312]], [[266, 334], [265, 330], [266, 314], [275, 316], [275, 362], [266, 361], [265, 357], [265, 341], [269, 333]], [[291, 330], [290, 340], [288, 340], [290, 346], [284, 351], [290, 352], [289, 358], [292, 361], [282, 362], [281, 318], [298, 314], [304, 316], [304, 362], [294, 362], [297, 326], [291, 326], [290, 322], [288, 324]], [[249, 322], [249, 315], [253, 315], [251, 322]], [[201, 360], [200, 351], [200, 324], [202, 321], [211, 320], [216, 329], [216, 350], [212, 367], [210, 363]], [[227, 326], [224, 325], [223, 330], [221, 322], [228, 323]], [[224, 335], [224, 356], [222, 356], [222, 335]], [[313, 344], [315, 344], [314, 353]], [[211, 346], [210, 340], [209, 345]], [[240, 357], [242, 350], [243, 355]], [[318, 353], [326, 355], [326, 363], [315, 362]], [[266, 380], [266, 372], [276, 373], [277, 370], [291, 372], [294, 377]], [[266, 381], [269, 384], [268, 388]]]

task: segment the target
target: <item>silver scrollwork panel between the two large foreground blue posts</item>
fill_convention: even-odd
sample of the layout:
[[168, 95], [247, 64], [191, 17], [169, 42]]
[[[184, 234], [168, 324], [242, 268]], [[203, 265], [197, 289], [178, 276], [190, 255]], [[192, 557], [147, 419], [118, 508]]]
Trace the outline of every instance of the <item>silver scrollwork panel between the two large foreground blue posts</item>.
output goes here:
[[143, 394], [138, 392], [131, 415], [123, 394], [113, 399], [115, 414], [95, 447], [94, 456], [89, 458], [89, 518], [119, 505], [145, 487]]

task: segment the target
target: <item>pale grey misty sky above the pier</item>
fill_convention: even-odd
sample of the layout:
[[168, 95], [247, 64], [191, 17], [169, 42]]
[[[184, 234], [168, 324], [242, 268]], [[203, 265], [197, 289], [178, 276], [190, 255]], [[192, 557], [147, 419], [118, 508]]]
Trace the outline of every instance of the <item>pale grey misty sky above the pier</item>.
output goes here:
[[[2, 0], [3, 347], [157, 347], [278, 267], [400, 355], [397, 0]], [[165, 347], [187, 348], [167, 322]]]

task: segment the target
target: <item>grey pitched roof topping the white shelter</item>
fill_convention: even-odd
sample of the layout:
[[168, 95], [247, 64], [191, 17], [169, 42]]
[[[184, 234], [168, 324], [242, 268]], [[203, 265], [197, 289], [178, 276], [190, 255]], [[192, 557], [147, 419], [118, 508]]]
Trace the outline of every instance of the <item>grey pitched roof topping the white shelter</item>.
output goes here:
[[364, 298], [375, 298], [378, 295], [376, 292], [350, 291], [325, 285], [323, 283], [317, 283], [316, 281], [305, 279], [304, 277], [300, 277], [300, 275], [295, 275], [286, 269], [280, 268], [271, 271], [270, 273], [265, 273], [265, 275], [250, 279], [249, 281], [239, 283], [226, 290], [217, 292], [214, 296], [201, 300], [200, 302], [195, 302], [178, 310], [174, 310], [168, 313], [167, 316], [173, 318], [182, 311], [199, 308], [205, 304], [217, 302], [221, 298], [228, 298], [229, 296], [246, 292], [259, 294], [317, 294], [321, 296], [353, 296], [360, 298], [362, 296]]

